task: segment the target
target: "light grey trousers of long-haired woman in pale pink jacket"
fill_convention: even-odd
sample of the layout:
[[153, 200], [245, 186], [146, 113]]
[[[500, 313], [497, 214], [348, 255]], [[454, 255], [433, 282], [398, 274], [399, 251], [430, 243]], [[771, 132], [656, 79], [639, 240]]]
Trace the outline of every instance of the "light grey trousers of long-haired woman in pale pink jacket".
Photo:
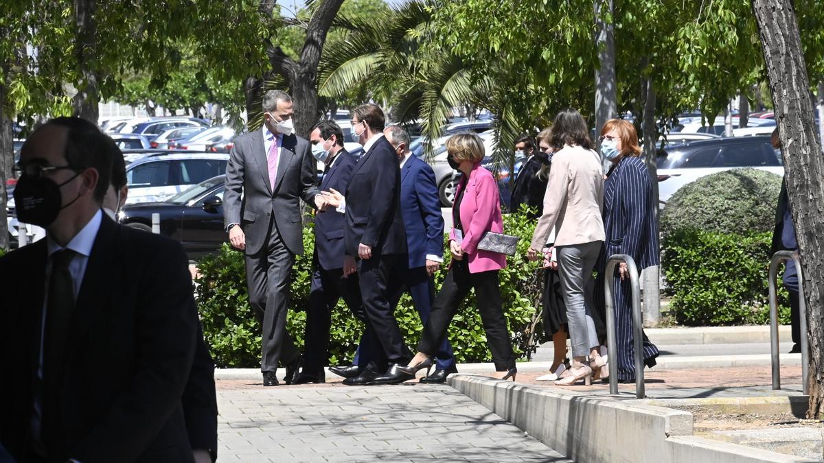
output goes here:
[[592, 268], [601, 253], [602, 243], [591, 241], [580, 245], [555, 246], [574, 357], [587, 356], [590, 349], [598, 345], [598, 335], [592, 321], [592, 291], [595, 288]]

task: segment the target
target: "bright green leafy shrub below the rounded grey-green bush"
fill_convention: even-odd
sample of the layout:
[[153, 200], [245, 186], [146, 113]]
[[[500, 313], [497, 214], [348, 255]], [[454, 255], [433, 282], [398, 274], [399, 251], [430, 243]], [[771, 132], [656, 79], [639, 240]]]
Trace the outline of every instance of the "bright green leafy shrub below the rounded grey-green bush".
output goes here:
[[[767, 266], [771, 234], [677, 230], [662, 242], [670, 306], [688, 326], [763, 325], [770, 320]], [[780, 322], [789, 302], [779, 290]]]

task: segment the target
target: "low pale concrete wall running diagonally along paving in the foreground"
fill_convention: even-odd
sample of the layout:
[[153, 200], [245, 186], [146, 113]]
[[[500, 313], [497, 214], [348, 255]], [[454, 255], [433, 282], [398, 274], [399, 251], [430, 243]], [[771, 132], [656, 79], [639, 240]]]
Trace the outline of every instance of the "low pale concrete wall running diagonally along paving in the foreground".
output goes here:
[[[458, 374], [447, 382], [574, 461], [725, 463], [809, 461], [692, 435], [692, 414], [634, 400]], [[616, 446], [616, 442], [628, 445]]]

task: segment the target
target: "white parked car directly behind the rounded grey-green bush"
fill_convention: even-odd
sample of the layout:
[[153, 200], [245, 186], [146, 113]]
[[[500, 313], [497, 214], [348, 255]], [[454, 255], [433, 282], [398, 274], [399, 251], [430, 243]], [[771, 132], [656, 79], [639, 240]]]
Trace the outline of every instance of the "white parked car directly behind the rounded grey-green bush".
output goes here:
[[755, 167], [784, 175], [770, 137], [718, 138], [658, 150], [658, 199], [666, 203], [682, 186], [715, 172]]

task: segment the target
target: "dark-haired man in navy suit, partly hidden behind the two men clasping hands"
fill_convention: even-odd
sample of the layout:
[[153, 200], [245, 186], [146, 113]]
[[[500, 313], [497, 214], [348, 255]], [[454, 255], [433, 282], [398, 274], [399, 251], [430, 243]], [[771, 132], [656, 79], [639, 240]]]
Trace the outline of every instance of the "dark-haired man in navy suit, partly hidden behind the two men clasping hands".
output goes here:
[[[344, 133], [334, 120], [321, 120], [309, 137], [312, 155], [324, 163], [321, 190], [345, 194], [355, 158], [344, 149]], [[330, 209], [315, 217], [315, 251], [312, 256], [311, 292], [304, 335], [303, 369], [294, 384], [325, 382], [331, 314], [340, 297], [360, 320], [365, 320], [353, 261], [344, 268], [344, 214]]]

